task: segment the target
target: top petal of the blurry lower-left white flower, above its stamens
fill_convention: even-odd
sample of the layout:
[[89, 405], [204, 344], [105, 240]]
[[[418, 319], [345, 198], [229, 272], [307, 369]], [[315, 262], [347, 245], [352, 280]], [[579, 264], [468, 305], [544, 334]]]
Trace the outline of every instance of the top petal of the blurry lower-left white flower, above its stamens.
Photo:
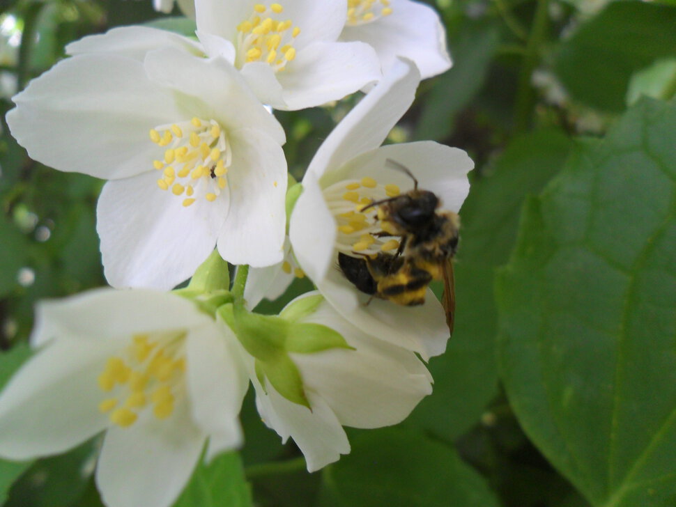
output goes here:
[[38, 348], [59, 337], [89, 340], [98, 346], [106, 340], [129, 338], [144, 331], [210, 322], [213, 321], [192, 302], [177, 295], [145, 289], [100, 288], [38, 302], [31, 345]]

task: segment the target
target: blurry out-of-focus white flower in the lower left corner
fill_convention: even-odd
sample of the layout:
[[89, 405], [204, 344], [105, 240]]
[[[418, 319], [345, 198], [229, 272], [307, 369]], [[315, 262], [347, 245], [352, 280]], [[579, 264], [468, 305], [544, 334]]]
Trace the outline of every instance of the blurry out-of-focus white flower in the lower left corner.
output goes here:
[[36, 354], [0, 394], [0, 455], [61, 453], [99, 432], [110, 507], [168, 507], [208, 441], [240, 444], [247, 375], [231, 331], [183, 297], [85, 292], [38, 305]]

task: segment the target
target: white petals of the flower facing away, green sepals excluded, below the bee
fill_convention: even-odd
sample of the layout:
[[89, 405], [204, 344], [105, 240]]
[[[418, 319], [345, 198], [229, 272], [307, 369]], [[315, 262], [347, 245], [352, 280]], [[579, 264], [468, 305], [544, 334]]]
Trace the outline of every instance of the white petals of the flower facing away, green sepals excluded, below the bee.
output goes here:
[[431, 393], [432, 379], [413, 352], [360, 331], [318, 292], [295, 299], [280, 315], [284, 317], [295, 304], [312, 308], [295, 322], [329, 327], [352, 349], [290, 353], [311, 409], [287, 400], [267, 380], [263, 388], [253, 370], [250, 376], [263, 421], [284, 441], [293, 438], [305, 455], [307, 470], [315, 471], [350, 452], [342, 426], [380, 428], [399, 423]]

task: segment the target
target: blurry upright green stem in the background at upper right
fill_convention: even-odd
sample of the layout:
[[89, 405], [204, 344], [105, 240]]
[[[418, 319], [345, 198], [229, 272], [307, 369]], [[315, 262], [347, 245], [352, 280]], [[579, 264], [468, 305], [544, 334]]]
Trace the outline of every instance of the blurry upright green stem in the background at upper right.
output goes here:
[[525, 47], [525, 55], [521, 70], [518, 74], [518, 88], [516, 89], [516, 106], [514, 109], [514, 130], [516, 133], [523, 132], [530, 124], [532, 109], [535, 104], [535, 93], [533, 91], [530, 79], [533, 70], [539, 63], [539, 52], [542, 42], [547, 34], [547, 24], [549, 16], [549, 0], [537, 0], [535, 18], [528, 44]]

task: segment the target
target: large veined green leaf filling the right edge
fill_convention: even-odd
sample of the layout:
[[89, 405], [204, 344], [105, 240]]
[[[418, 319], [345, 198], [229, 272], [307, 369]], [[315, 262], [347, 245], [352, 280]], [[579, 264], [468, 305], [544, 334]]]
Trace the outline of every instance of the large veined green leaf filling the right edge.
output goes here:
[[523, 210], [497, 283], [530, 439], [595, 507], [676, 501], [676, 105], [641, 100]]

